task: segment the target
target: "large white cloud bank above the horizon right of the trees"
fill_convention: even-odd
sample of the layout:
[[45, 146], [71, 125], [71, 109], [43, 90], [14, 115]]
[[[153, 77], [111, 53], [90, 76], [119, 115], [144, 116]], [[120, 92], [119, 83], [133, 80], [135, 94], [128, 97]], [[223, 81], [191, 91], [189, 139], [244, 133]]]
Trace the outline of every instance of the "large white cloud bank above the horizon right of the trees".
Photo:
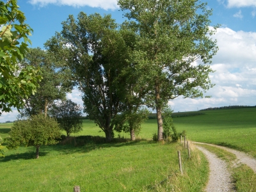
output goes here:
[[211, 65], [216, 72], [210, 75], [216, 85], [205, 94], [211, 98], [178, 97], [169, 102], [174, 111], [256, 105], [256, 33], [219, 28], [212, 38], [217, 39], [219, 51]]

